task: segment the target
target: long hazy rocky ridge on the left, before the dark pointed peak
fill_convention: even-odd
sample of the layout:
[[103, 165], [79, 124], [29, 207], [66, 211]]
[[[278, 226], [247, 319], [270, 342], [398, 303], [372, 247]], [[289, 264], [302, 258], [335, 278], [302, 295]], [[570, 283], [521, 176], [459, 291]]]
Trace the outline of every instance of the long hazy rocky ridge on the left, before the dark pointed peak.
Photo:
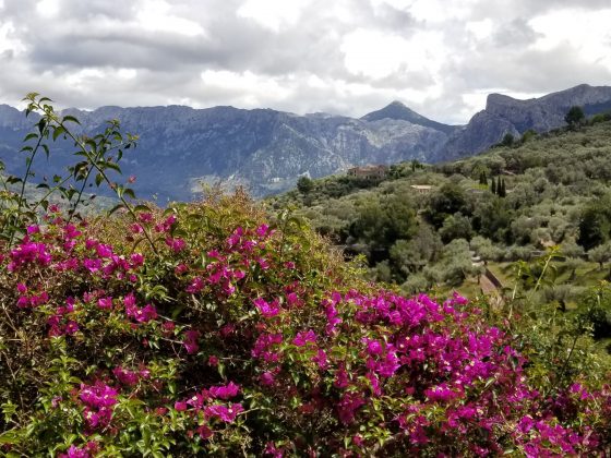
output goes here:
[[[23, 158], [14, 153], [29, 124], [17, 110], [3, 111], [0, 160], [19, 171]], [[136, 176], [140, 196], [157, 195], [161, 201], [193, 198], [200, 181], [244, 185], [262, 196], [292, 188], [300, 176], [319, 178], [357, 165], [427, 160], [447, 141], [443, 131], [402, 119], [368, 121], [271, 109], [101, 107], [67, 113], [79, 118], [86, 133], [99, 132], [109, 119], [119, 119], [123, 131], [137, 133], [141, 141], [125, 154], [123, 173]], [[68, 150], [56, 155], [55, 164], [65, 165]], [[57, 173], [52, 165], [39, 168]]]

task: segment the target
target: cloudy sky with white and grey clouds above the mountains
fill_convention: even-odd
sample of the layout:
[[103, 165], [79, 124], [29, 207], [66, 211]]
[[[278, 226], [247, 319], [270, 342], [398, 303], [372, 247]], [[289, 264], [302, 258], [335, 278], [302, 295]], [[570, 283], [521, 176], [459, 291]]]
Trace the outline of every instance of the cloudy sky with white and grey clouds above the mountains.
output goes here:
[[466, 123], [490, 93], [611, 82], [610, 0], [0, 0], [0, 103]]

